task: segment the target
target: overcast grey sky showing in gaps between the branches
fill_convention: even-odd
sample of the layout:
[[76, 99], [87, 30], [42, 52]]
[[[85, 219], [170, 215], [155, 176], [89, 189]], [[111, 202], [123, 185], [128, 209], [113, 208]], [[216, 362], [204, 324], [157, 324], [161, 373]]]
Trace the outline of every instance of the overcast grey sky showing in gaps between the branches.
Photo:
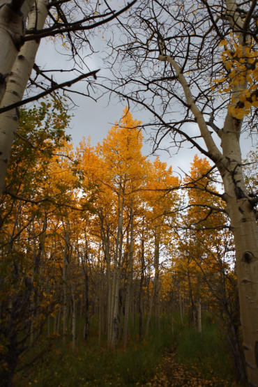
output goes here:
[[[94, 40], [94, 46], [100, 47], [99, 51], [101, 52], [103, 49], [103, 45], [105, 45], [105, 39], [100, 40], [102, 38], [102, 33], [100, 36]], [[56, 45], [49, 41], [46, 43], [44, 40], [40, 43], [40, 48], [38, 50], [38, 54], [36, 56], [36, 63], [40, 68], [52, 69], [59, 68], [63, 70], [70, 70], [73, 67], [73, 62], [68, 60], [68, 56], [60, 54], [56, 52], [57, 50], [61, 51], [61, 45]], [[63, 51], [65, 53], [65, 51]], [[100, 68], [100, 72], [98, 73], [100, 76], [106, 76], [106, 70], [104, 69], [103, 63], [101, 62], [100, 55], [94, 54], [91, 58], [87, 57], [85, 59], [86, 65], [90, 70], [96, 70]], [[89, 70], [85, 70], [85, 73]], [[76, 75], [73, 73], [60, 73], [58, 77], [56, 77], [57, 82], [63, 82], [64, 80], [73, 79]], [[86, 88], [86, 83], [80, 82], [73, 86], [73, 89], [77, 89], [79, 91], [84, 92]], [[112, 97], [111, 100], [109, 98], [103, 97], [95, 102], [91, 98], [86, 98], [82, 96], [78, 96], [73, 94], [73, 101], [77, 105], [75, 109], [73, 109], [73, 119], [70, 124], [70, 129], [68, 130], [68, 134], [72, 135], [73, 143], [76, 145], [82, 140], [83, 137], [91, 137], [91, 144], [96, 145], [98, 142], [102, 142], [102, 140], [107, 136], [107, 132], [110, 130], [115, 121], [119, 121], [121, 115], [123, 113], [123, 109], [125, 105], [119, 103], [119, 100]], [[143, 123], [149, 122], [149, 116], [146, 112], [132, 112], [133, 118], [141, 120]], [[192, 134], [197, 133], [197, 128], [192, 126]], [[148, 139], [148, 135], [144, 134], [145, 139]], [[243, 135], [246, 137], [246, 135]], [[167, 140], [169, 141], [169, 140]], [[219, 145], [219, 144], [218, 144]], [[250, 146], [252, 146], [250, 139], [242, 142], [242, 154], [243, 156], [249, 151]], [[144, 144], [143, 153], [149, 154], [152, 151], [151, 144]], [[173, 154], [171, 152], [171, 156], [166, 151], [160, 151], [158, 155], [160, 155], [160, 159], [162, 161], [167, 162], [168, 165], [172, 165], [173, 170], [179, 172], [179, 168], [183, 169], [183, 171], [188, 172], [190, 169], [190, 162], [196, 153], [199, 153], [197, 149], [181, 149], [178, 154]], [[175, 153], [175, 151], [174, 151]]]

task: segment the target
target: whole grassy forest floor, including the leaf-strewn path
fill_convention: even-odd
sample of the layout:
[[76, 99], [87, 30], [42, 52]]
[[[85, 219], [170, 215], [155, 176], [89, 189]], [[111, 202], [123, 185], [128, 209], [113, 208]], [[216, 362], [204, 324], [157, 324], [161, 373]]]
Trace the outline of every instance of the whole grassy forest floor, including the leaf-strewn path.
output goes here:
[[[92, 334], [88, 342], [80, 342], [76, 353], [70, 342], [63, 347], [62, 337], [47, 342], [40, 361], [19, 372], [13, 386], [247, 386], [236, 382], [227, 343], [215, 324], [204, 324], [202, 335], [179, 325], [174, 335], [167, 329], [160, 336], [153, 331], [141, 342], [131, 337], [126, 350], [110, 351], [96, 340]], [[28, 358], [25, 361], [29, 363]]]

